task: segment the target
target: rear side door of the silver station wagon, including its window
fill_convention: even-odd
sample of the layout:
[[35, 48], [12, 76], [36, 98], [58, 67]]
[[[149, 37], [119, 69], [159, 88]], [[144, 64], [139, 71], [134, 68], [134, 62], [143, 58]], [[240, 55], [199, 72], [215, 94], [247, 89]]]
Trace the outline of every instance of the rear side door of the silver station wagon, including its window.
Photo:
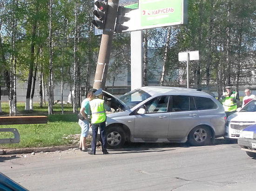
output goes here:
[[168, 137], [182, 139], [199, 124], [199, 112], [193, 96], [172, 96], [171, 106]]

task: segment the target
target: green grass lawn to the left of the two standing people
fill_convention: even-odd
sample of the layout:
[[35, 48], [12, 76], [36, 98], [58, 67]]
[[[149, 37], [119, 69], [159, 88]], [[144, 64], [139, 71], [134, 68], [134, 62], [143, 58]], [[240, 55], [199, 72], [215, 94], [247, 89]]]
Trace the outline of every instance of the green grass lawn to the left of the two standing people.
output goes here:
[[[25, 111], [25, 103], [17, 103], [19, 115], [47, 115], [48, 106], [40, 108], [39, 103], [34, 103], [33, 111]], [[2, 103], [2, 110], [8, 115], [8, 103]], [[4, 148], [28, 148], [44, 146], [63, 146], [72, 145], [73, 138], [67, 135], [81, 133], [78, 124], [77, 114], [73, 114], [70, 104], [65, 105], [64, 114], [61, 113], [61, 104], [54, 105], [54, 115], [48, 116], [47, 124], [28, 124], [28, 125], [1, 125], [0, 128], [17, 128], [20, 133], [20, 143], [1, 144], [0, 149]], [[0, 139], [13, 138], [13, 133], [0, 132]]]

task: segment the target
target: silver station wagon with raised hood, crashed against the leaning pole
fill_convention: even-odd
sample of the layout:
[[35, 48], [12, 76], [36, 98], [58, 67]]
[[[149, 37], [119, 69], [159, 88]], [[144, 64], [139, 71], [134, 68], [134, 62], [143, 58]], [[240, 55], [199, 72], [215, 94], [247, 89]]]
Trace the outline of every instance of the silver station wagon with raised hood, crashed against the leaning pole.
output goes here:
[[121, 147], [125, 141], [189, 141], [192, 146], [203, 146], [225, 134], [221, 103], [203, 91], [146, 86], [119, 98], [103, 95], [119, 111], [107, 115], [108, 148]]

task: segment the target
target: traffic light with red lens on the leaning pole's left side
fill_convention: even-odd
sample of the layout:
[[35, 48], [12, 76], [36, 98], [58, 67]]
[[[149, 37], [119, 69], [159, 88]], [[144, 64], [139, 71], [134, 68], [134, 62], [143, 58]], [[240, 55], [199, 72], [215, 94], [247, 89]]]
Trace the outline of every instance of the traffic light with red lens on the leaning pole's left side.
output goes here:
[[93, 14], [97, 19], [92, 19], [92, 24], [95, 25], [96, 29], [103, 29], [105, 25], [105, 19], [108, 9], [108, 3], [106, 1], [95, 1], [95, 6], [97, 10], [94, 10]]

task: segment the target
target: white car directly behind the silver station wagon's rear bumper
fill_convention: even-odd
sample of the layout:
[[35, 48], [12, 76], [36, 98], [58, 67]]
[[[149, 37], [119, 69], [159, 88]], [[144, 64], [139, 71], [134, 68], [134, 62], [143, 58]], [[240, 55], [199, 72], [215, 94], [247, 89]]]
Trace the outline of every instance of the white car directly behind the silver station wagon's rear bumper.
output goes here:
[[243, 108], [237, 108], [237, 111], [226, 121], [224, 138], [238, 139], [244, 128], [256, 124], [256, 100], [250, 101]]

